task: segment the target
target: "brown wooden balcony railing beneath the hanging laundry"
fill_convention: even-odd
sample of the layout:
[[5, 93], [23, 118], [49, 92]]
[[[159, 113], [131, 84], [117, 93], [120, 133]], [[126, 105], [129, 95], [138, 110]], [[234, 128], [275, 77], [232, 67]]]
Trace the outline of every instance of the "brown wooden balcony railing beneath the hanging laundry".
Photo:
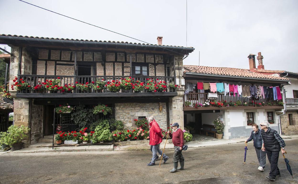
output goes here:
[[[209, 101], [208, 101], [209, 100]], [[252, 98], [246, 98], [242, 97], [241, 95], [218, 95], [218, 98], [215, 97], [208, 97], [208, 93], [189, 93], [184, 95], [184, 107], [195, 107], [194, 104], [204, 104], [206, 101], [210, 103], [209, 106], [216, 107], [215, 105], [212, 105], [211, 102], [214, 101], [221, 102], [224, 104], [224, 107], [227, 106], [235, 106], [234, 104], [238, 104], [236, 106], [283, 106], [282, 100], [273, 100], [271, 98], [258, 98], [258, 99], [252, 99]], [[229, 105], [229, 102], [232, 103], [232, 105]], [[239, 103], [241, 102], [241, 104]], [[188, 104], [187, 104], [188, 103]], [[190, 104], [190, 105], [189, 105]], [[206, 103], [205, 103], [206, 104]]]

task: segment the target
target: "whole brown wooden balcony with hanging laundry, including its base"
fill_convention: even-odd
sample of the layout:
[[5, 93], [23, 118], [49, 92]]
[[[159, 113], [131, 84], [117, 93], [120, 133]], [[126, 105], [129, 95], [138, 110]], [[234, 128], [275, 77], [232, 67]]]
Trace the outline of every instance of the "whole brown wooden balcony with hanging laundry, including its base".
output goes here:
[[[217, 103], [214, 105], [211, 104], [211, 102], [215, 101], [221, 102], [220, 105], [217, 105]], [[209, 102], [209, 105], [204, 106], [205, 102]], [[190, 105], [187, 105], [187, 103], [190, 103]], [[184, 111], [218, 109], [282, 109], [283, 101], [269, 98], [252, 99], [242, 97], [241, 95], [238, 97], [237, 94], [235, 97], [233, 95], [218, 95], [218, 98], [214, 98], [208, 97], [208, 93], [189, 93], [184, 95], [183, 106]]]

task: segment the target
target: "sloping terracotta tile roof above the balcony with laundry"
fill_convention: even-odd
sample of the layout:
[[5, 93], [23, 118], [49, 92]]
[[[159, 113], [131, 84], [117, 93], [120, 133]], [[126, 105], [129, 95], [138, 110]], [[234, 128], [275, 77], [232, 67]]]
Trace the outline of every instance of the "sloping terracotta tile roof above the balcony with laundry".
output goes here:
[[238, 77], [289, 80], [288, 78], [275, 77], [272, 75], [261, 74], [258, 72], [251, 72], [249, 71], [249, 69], [227, 68], [227, 67], [205, 67], [205, 66], [197, 66], [197, 65], [184, 65], [183, 67], [184, 67], [184, 73], [195, 72], [195, 73], [229, 75], [229, 76], [238, 76]]

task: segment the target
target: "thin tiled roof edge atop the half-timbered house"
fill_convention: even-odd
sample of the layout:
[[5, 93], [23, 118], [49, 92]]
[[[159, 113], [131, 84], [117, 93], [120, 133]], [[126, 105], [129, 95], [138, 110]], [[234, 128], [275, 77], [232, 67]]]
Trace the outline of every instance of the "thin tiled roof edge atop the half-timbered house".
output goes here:
[[[22, 35], [6, 35], [1, 34], [0, 36], [7, 36], [7, 37], [19, 37], [19, 38], [36, 38], [36, 39], [47, 39], [47, 40], [71, 40], [71, 41], [88, 41], [88, 42], [108, 42], [108, 43], [121, 43], [121, 44], [137, 44], [137, 45], [157, 45], [157, 44], [141, 44], [141, 43], [132, 43], [127, 41], [97, 41], [97, 40], [79, 40], [79, 39], [69, 39], [69, 38], [49, 38], [49, 37], [38, 37], [38, 36], [22, 36]], [[173, 45], [159, 45], [159, 46], [170, 46], [170, 47], [183, 47], [183, 46], [173, 46]], [[193, 47], [187, 47], [193, 48]]]

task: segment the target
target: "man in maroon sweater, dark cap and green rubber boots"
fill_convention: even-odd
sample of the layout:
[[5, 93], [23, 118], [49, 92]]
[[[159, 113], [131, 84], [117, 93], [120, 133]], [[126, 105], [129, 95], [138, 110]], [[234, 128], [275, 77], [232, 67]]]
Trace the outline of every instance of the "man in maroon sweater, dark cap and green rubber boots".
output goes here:
[[[173, 133], [168, 131], [168, 134], [170, 137], [172, 137], [172, 142], [174, 144], [174, 155], [173, 155], [173, 162], [174, 162], [174, 168], [170, 170], [170, 172], [176, 172], [177, 170], [183, 170], [184, 169], [184, 157], [182, 155], [182, 147], [184, 145], [183, 142], [183, 131], [179, 128], [178, 123], [173, 123], [171, 125], [173, 127]], [[178, 167], [178, 162], [180, 162], [180, 167]]]

